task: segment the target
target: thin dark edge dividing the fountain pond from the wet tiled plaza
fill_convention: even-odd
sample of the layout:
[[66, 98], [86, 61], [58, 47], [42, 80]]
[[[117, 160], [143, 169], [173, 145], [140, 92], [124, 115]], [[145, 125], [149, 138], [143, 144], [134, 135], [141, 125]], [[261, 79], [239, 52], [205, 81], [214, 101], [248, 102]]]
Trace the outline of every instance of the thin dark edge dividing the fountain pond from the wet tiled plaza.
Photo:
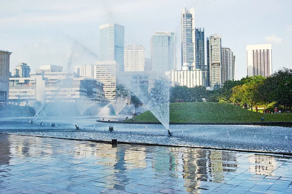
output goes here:
[[[52, 136], [39, 136], [39, 135], [28, 135], [28, 134], [15, 134], [15, 133], [0, 133], [0, 135], [20, 135], [20, 136], [31, 136], [37, 138], [53, 138], [53, 139], [61, 139], [61, 140], [75, 140], [75, 141], [91, 141], [97, 143], [105, 143], [112, 144], [111, 141], [106, 140], [92, 140], [92, 139], [76, 139], [76, 138], [62, 138], [62, 137], [52, 137]], [[187, 145], [164, 145], [158, 143], [143, 143], [143, 142], [128, 142], [128, 141], [118, 141], [118, 144], [128, 144], [128, 145], [145, 145], [145, 146], [161, 146], [161, 147], [189, 147], [189, 148], [200, 148], [204, 150], [219, 150], [219, 151], [230, 151], [230, 152], [241, 152], [241, 153], [264, 153], [264, 154], [280, 154], [280, 155], [288, 155], [292, 156], [292, 152], [272, 152], [272, 151], [262, 151], [262, 150], [244, 150], [244, 149], [229, 149], [229, 148], [217, 148], [217, 147], [203, 147], [203, 146], [187, 146]], [[117, 144], [112, 144], [117, 145]], [[271, 155], [273, 156], [273, 155]]]

